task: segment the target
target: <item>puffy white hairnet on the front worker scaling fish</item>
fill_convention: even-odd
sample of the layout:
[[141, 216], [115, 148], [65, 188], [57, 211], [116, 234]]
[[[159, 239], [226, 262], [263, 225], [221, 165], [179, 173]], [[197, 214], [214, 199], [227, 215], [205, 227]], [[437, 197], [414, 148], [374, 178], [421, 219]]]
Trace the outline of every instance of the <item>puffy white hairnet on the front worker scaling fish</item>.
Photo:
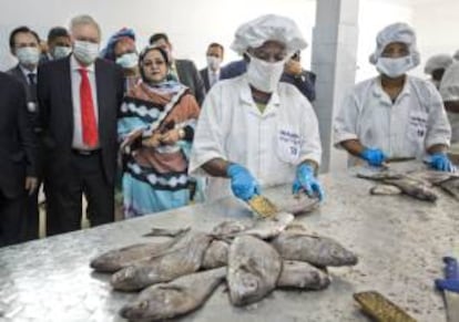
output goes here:
[[295, 21], [282, 15], [266, 14], [241, 25], [231, 48], [243, 54], [248, 48], [258, 48], [268, 40], [284, 43], [288, 53], [307, 46]]

